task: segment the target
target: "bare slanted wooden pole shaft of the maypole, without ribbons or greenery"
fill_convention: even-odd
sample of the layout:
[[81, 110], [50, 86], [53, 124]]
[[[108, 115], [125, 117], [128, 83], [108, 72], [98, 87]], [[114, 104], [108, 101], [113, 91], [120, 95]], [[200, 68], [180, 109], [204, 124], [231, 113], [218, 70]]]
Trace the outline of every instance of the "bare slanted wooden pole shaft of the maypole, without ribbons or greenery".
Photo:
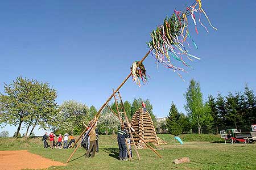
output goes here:
[[[150, 53], [150, 51], [148, 51], [145, 56], [141, 59], [141, 61], [139, 61], [138, 66], [144, 61], [144, 59], [147, 58], [148, 54]], [[127, 75], [127, 77], [125, 78], [125, 80], [123, 80], [123, 82], [117, 87], [117, 89], [114, 91], [114, 93], [112, 95], [110, 95], [109, 99], [106, 100], [106, 102], [101, 106], [101, 108], [98, 110], [97, 114], [96, 114], [96, 120], [93, 122], [92, 127], [96, 124], [98, 117], [100, 117], [101, 111], [106, 107], [106, 105], [109, 103], [109, 101], [112, 99], [112, 97], [114, 96], [114, 94], [116, 92], [119, 91], [119, 89], [123, 86], [123, 84], [125, 84], [125, 82], [130, 78], [131, 76], [131, 72], [129, 75]], [[89, 129], [90, 130], [90, 129]], [[75, 144], [73, 145], [76, 146], [77, 142], [79, 141], [79, 139], [82, 137], [82, 134], [84, 134], [86, 131], [86, 128], [84, 129], [84, 131], [82, 131], [81, 135], [79, 136], [79, 138], [76, 140]], [[66, 163], [69, 162], [69, 160], [72, 158], [72, 156], [75, 154], [76, 150], [77, 150], [78, 146], [76, 147], [76, 149], [72, 152], [72, 154], [69, 156], [68, 160]]]

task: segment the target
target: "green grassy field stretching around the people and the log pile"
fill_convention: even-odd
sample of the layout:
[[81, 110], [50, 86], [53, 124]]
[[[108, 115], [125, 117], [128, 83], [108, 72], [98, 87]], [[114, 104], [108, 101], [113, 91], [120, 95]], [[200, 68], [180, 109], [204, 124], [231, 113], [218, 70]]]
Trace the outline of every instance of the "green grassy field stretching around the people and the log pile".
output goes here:
[[[65, 167], [49, 169], [256, 169], [256, 145], [221, 143], [218, 135], [181, 135], [184, 145], [174, 141], [169, 134], [159, 135], [167, 142], [158, 150], [158, 158], [151, 150], [139, 150], [141, 161], [134, 154], [132, 162], [117, 159], [118, 146], [115, 135], [100, 136], [100, 152], [95, 158], [85, 159], [85, 150], [79, 148]], [[40, 139], [0, 138], [1, 150], [28, 150], [45, 158], [65, 163], [73, 149], [43, 149]], [[190, 163], [175, 165], [174, 159], [188, 156]]]

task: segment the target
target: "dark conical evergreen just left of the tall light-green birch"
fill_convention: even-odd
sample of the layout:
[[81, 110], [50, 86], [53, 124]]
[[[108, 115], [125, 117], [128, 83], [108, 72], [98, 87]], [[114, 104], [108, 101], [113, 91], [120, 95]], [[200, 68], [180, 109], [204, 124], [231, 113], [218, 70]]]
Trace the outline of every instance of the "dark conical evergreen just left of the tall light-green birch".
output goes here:
[[166, 119], [166, 126], [169, 133], [179, 135], [182, 133], [182, 127], [179, 125], [180, 114], [177, 111], [176, 105], [172, 103], [169, 115]]

